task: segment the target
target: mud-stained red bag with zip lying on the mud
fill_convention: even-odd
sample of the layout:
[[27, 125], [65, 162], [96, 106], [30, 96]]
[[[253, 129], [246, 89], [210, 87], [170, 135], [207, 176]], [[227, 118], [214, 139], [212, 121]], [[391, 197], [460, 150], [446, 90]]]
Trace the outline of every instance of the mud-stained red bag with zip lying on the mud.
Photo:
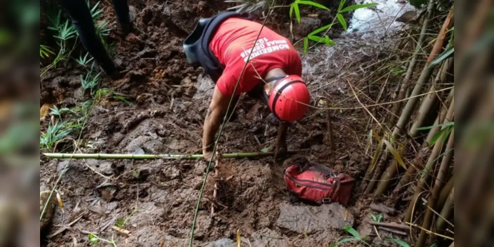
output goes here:
[[323, 203], [347, 205], [352, 195], [355, 179], [311, 163], [306, 159], [286, 168], [285, 184], [291, 195], [297, 198]]

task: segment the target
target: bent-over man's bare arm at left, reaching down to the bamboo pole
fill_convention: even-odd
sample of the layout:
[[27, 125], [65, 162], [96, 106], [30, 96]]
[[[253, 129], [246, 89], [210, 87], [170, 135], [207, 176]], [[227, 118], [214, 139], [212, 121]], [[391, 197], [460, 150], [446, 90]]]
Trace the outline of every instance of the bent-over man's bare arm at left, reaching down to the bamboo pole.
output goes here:
[[210, 155], [213, 152], [213, 144], [216, 132], [220, 128], [223, 116], [225, 116], [226, 109], [231, 97], [223, 95], [218, 87], [215, 87], [213, 92], [213, 99], [208, 108], [206, 119], [204, 120], [204, 130], [202, 134], [202, 152], [205, 155], [205, 159], [209, 158], [206, 155]]

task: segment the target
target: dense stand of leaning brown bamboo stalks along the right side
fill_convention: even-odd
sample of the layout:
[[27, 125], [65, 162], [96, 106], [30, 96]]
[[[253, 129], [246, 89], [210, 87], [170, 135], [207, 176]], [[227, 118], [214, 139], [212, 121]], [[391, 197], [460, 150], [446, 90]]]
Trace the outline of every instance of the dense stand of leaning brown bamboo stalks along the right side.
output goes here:
[[418, 39], [395, 94], [398, 103], [387, 118], [389, 130], [369, 132], [368, 145], [375, 143], [362, 182], [374, 201], [403, 210], [416, 247], [449, 245], [454, 237], [454, 5], [440, 11], [438, 4], [428, 1], [420, 17]]

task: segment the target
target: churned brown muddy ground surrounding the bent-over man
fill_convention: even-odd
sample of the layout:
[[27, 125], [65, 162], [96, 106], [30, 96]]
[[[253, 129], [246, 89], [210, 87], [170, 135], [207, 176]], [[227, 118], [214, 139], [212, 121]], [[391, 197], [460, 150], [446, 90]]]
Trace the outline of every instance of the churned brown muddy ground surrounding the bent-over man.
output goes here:
[[[213, 84], [201, 69], [194, 70], [186, 64], [181, 45], [199, 17], [210, 16], [226, 6], [212, 0], [131, 3], [140, 10], [135, 22], [139, 34], [126, 40], [114, 38], [116, 61], [127, 70], [126, 77], [114, 82], [105, 79], [102, 86], [126, 95], [132, 104], [109, 100], [95, 107], [82, 136], [87, 145], [78, 151], [200, 153], [202, 124]], [[110, 4], [105, 4], [105, 14], [114, 20]], [[268, 25], [274, 30], [282, 30], [284, 34], [289, 30], [288, 23], [274, 23], [277, 22], [273, 17]], [[312, 105], [317, 106], [320, 99], [328, 97], [330, 104], [339, 107], [359, 107], [348, 82], [358, 90], [368, 90], [369, 97], [377, 97], [381, 82], [369, 84], [361, 79], [371, 61], [388, 53], [354, 36], [342, 37], [346, 45], [332, 51], [341, 54], [340, 58], [328, 54], [325, 47], [316, 47], [304, 56], [304, 74], [313, 93]], [[347, 51], [355, 47], [361, 52], [352, 55]], [[331, 56], [334, 59], [328, 61]], [[53, 69], [42, 78], [42, 109], [53, 104], [72, 107], [88, 99], [88, 94], [80, 88], [80, 74], [81, 69], [72, 64]], [[367, 98], [361, 102], [372, 103]], [[318, 109], [310, 109], [302, 121], [289, 129], [288, 147], [310, 148], [310, 152], [301, 155], [346, 172], [360, 183], [370, 160], [364, 153], [368, 116], [362, 109], [331, 113], [336, 150], [329, 148], [325, 110]], [[48, 118], [44, 117], [42, 129]], [[265, 147], [272, 148], [276, 127], [268, 108], [245, 96], [236, 117], [226, 124], [220, 152], [259, 152]], [[232, 246], [237, 229], [245, 238], [245, 246], [247, 243], [256, 247], [327, 246], [345, 235], [341, 230], [345, 225], [362, 225], [361, 222], [368, 220], [368, 203], [360, 195], [359, 183], [346, 208], [288, 204], [282, 172], [292, 158], [283, 164], [275, 163], [272, 158], [220, 160], [217, 174], [213, 172], [209, 176], [201, 202], [194, 246]], [[73, 160], [68, 163], [68, 160], [42, 158], [41, 190], [51, 188], [68, 167], [58, 186], [64, 210], [56, 209], [52, 226], [42, 239], [43, 246], [75, 243], [89, 246], [89, 233], [107, 240], [114, 238], [117, 246], [187, 245], [206, 169], [204, 161]], [[216, 199], [213, 198], [215, 183]], [[212, 204], [216, 207], [213, 216]], [[315, 218], [307, 218], [308, 212]], [[112, 229], [115, 224], [122, 225], [130, 235]], [[369, 229], [361, 231], [369, 232]]]

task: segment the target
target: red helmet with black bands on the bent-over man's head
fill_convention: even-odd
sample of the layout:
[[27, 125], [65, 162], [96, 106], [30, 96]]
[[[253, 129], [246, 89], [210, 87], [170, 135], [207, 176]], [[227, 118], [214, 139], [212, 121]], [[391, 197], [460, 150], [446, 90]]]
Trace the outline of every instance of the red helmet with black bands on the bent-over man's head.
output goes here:
[[269, 109], [281, 121], [297, 121], [309, 108], [311, 96], [302, 78], [287, 76], [274, 83], [269, 92]]

